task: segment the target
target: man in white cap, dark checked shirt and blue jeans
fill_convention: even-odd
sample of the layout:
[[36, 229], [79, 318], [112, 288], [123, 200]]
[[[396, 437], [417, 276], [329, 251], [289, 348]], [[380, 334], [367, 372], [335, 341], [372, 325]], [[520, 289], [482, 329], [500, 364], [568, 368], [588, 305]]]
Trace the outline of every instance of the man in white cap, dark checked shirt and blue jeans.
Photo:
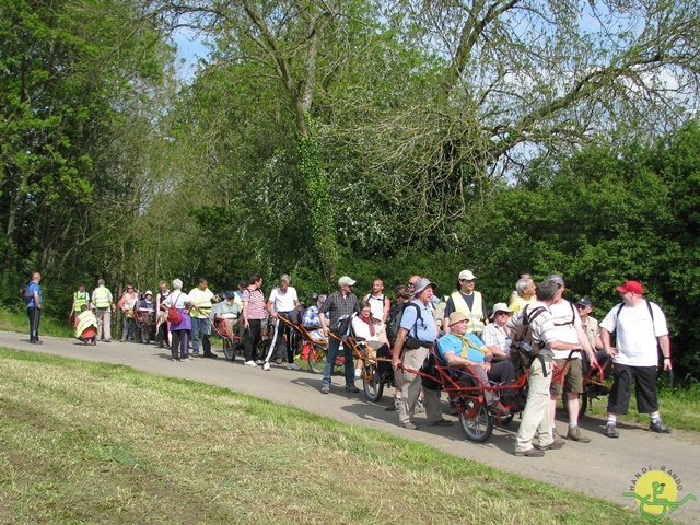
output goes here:
[[[320, 393], [328, 394], [330, 392], [330, 376], [336, 363], [336, 355], [340, 349], [340, 337], [345, 334], [338, 332], [338, 325], [341, 318], [351, 316], [360, 311], [358, 296], [352, 293], [352, 287], [355, 281], [348, 276], [338, 279], [338, 291], [332, 292], [326, 298], [320, 306], [318, 318], [324, 336], [328, 339], [328, 351], [326, 354], [326, 365], [324, 366], [324, 378], [320, 381]], [[336, 337], [330, 336], [334, 334]], [[354, 366], [352, 365], [352, 354], [350, 349], [343, 347], [346, 358], [346, 390], [358, 393], [360, 389], [354, 386]]]

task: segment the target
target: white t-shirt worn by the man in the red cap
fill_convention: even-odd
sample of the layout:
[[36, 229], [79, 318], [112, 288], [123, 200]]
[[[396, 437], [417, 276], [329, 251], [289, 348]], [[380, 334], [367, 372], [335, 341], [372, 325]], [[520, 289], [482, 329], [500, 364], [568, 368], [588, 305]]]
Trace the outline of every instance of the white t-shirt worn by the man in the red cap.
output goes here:
[[625, 305], [618, 310], [616, 304], [605, 316], [600, 328], [616, 332], [618, 354], [616, 363], [630, 366], [656, 366], [658, 364], [657, 338], [668, 335], [666, 316], [655, 303], [649, 303], [654, 312], [654, 319], [649, 312], [646, 301], [637, 306]]

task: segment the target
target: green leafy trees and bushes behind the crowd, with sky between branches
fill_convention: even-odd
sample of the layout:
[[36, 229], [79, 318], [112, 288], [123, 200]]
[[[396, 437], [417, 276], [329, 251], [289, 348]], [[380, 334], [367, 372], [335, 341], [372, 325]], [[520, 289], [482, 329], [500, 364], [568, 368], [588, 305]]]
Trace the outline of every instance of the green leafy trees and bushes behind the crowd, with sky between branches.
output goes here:
[[[638, 279], [700, 375], [696, 1], [0, 0], [2, 302]], [[211, 47], [178, 81], [171, 36]], [[267, 289], [267, 287], [266, 287]]]

